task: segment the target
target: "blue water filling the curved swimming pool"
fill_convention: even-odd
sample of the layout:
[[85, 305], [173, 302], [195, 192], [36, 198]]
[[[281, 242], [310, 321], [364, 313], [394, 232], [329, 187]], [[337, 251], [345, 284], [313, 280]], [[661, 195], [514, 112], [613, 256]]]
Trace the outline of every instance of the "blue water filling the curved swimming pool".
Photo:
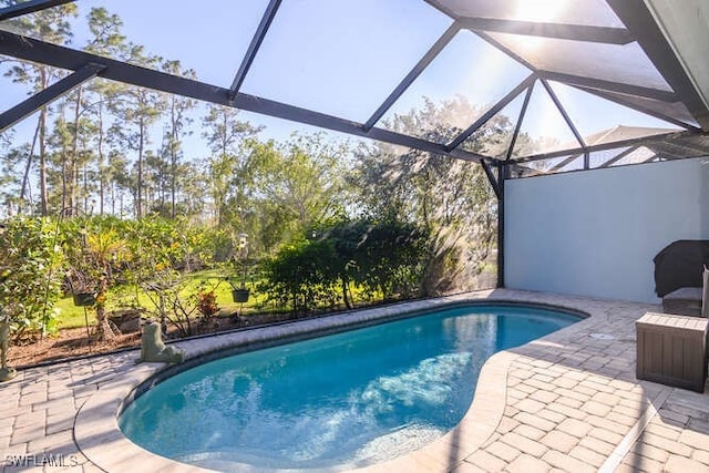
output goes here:
[[146, 450], [220, 471], [380, 462], [455, 426], [493, 353], [577, 320], [469, 306], [242, 353], [166, 379], [120, 425]]

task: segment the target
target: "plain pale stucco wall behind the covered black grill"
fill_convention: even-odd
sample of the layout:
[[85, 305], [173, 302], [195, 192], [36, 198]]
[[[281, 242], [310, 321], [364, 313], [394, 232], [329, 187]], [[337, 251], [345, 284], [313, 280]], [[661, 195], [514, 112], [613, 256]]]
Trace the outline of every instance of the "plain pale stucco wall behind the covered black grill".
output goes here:
[[678, 239], [709, 239], [709, 158], [505, 183], [508, 288], [657, 302]]

